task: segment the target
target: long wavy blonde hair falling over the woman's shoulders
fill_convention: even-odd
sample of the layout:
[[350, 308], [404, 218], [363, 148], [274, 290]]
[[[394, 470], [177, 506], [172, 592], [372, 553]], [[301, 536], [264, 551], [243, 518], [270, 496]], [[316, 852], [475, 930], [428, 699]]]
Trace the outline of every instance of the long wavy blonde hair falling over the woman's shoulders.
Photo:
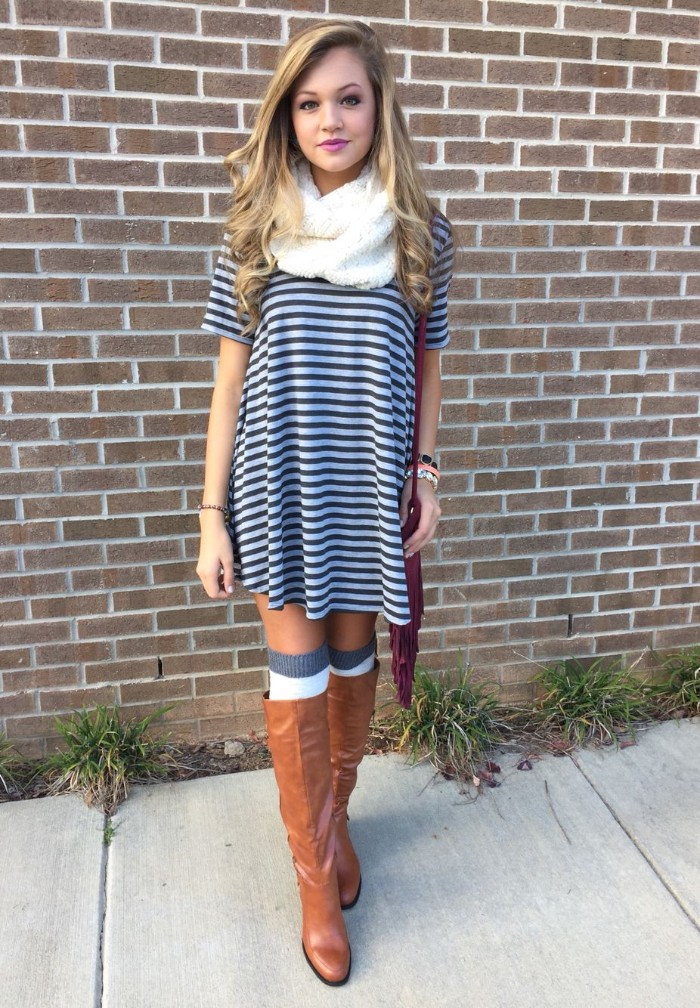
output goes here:
[[299, 150], [293, 141], [290, 99], [297, 82], [331, 49], [353, 49], [362, 59], [376, 101], [375, 135], [369, 163], [386, 188], [396, 218], [396, 282], [419, 313], [433, 300], [434, 260], [430, 221], [434, 208], [421, 181], [416, 154], [388, 54], [361, 21], [329, 20], [312, 25], [284, 47], [255, 126], [246, 143], [228, 154], [233, 203], [226, 221], [231, 255], [238, 266], [235, 294], [246, 332], [260, 319], [260, 296], [275, 259], [270, 239], [294, 235], [302, 223], [302, 200], [290, 172]]

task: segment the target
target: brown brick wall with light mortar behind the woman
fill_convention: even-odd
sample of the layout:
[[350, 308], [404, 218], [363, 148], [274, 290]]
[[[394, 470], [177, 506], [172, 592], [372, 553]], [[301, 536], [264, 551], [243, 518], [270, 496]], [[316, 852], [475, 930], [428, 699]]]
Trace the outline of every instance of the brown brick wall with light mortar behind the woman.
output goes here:
[[261, 723], [253, 607], [194, 576], [198, 327], [221, 158], [333, 14], [379, 15], [461, 249], [424, 659], [516, 699], [533, 661], [697, 641], [699, 13], [0, 0], [0, 729], [38, 753], [113, 700], [179, 701], [181, 736]]

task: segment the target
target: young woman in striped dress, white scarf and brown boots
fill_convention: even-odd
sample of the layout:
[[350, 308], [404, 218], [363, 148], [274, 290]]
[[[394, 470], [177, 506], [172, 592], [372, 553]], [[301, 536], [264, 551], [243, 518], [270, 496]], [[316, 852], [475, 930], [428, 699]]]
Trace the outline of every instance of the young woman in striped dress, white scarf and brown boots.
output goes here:
[[[253, 594], [303, 948], [345, 983], [360, 867], [347, 805], [374, 709], [375, 621], [409, 622], [403, 552], [435, 534], [452, 240], [419, 178], [389, 60], [361, 22], [286, 45], [247, 143], [203, 328], [221, 337], [197, 573]], [[405, 544], [417, 321], [428, 314], [421, 522]]]

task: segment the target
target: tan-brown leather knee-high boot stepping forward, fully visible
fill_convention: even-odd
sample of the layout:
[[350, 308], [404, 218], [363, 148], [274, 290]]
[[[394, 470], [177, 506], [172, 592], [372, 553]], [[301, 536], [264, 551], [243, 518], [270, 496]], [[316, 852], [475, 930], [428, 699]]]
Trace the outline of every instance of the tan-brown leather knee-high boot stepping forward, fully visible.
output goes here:
[[262, 706], [302, 899], [304, 954], [319, 980], [340, 987], [350, 975], [350, 946], [338, 893], [327, 695], [271, 701], [264, 694]]

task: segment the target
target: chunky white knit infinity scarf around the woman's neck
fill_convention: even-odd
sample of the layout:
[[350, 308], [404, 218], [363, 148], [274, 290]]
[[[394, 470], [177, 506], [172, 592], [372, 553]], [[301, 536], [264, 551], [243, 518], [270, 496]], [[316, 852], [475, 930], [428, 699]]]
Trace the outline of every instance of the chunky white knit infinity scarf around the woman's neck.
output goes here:
[[291, 173], [304, 218], [298, 234], [270, 242], [279, 269], [362, 290], [387, 284], [396, 272], [395, 216], [376, 173], [365, 165], [354, 181], [324, 197], [306, 159]]

